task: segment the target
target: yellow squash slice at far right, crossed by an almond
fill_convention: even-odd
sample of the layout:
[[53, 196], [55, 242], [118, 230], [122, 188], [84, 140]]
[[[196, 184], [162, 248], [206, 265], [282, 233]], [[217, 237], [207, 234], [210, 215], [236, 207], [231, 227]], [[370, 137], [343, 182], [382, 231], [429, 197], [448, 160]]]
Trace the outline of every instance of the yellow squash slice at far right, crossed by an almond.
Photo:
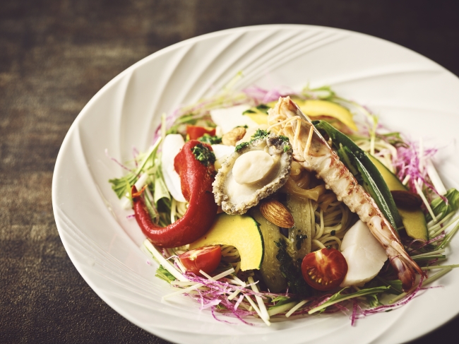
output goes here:
[[[386, 166], [384, 166], [378, 159], [374, 156], [368, 155], [371, 162], [374, 163], [378, 171], [383, 176], [384, 182], [386, 182], [389, 190], [403, 190], [407, 191], [405, 185], [400, 182], [395, 174], [393, 174]], [[398, 208], [398, 213], [402, 217], [403, 226], [409, 237], [413, 239], [429, 239], [429, 232], [427, 230], [426, 217], [422, 212], [421, 208], [409, 210], [404, 208]]]

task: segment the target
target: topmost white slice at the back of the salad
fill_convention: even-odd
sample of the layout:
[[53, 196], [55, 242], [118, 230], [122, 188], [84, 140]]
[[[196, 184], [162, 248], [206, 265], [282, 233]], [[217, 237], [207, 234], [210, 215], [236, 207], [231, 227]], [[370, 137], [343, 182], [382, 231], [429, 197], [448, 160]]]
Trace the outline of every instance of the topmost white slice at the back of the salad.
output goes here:
[[250, 117], [242, 114], [242, 112], [247, 109], [250, 109], [250, 105], [237, 105], [224, 109], [213, 109], [210, 110], [210, 117], [212, 117], [212, 120], [217, 126], [220, 126], [223, 134], [231, 131], [236, 126], [258, 126]]

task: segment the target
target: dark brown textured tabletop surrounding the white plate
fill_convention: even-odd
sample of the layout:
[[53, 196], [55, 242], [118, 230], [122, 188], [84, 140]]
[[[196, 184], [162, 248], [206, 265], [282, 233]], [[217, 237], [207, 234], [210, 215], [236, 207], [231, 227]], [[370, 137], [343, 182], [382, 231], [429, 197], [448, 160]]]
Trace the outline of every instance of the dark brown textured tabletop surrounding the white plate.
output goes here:
[[[364, 32], [459, 74], [458, 1], [0, 1], [1, 343], [167, 343], [108, 307], [68, 259], [52, 213], [56, 156], [78, 112], [131, 64], [270, 23]], [[457, 328], [413, 343], [450, 342]]]

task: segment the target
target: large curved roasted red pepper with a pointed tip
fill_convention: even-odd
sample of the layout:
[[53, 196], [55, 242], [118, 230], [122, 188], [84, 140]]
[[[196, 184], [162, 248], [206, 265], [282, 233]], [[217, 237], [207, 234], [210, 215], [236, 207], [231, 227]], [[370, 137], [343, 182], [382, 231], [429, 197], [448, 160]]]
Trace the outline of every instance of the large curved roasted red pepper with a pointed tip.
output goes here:
[[181, 192], [189, 201], [185, 215], [179, 220], [167, 227], [153, 223], [143, 198], [136, 195], [136, 186], [132, 186], [137, 223], [148, 239], [159, 247], [179, 247], [194, 242], [209, 230], [217, 215], [217, 204], [212, 193], [215, 167], [212, 163], [205, 166], [196, 160], [191, 150], [197, 144], [210, 148], [206, 143], [191, 140], [185, 143], [174, 159], [174, 168], [180, 176]]

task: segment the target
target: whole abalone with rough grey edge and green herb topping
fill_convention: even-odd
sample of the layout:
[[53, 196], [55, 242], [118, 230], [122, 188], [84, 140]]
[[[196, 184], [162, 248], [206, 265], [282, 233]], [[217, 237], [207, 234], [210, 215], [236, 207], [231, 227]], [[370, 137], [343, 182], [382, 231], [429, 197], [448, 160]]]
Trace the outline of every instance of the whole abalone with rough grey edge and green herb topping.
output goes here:
[[259, 130], [236, 147], [213, 182], [215, 202], [227, 214], [244, 214], [280, 189], [290, 174], [292, 148], [285, 136]]

